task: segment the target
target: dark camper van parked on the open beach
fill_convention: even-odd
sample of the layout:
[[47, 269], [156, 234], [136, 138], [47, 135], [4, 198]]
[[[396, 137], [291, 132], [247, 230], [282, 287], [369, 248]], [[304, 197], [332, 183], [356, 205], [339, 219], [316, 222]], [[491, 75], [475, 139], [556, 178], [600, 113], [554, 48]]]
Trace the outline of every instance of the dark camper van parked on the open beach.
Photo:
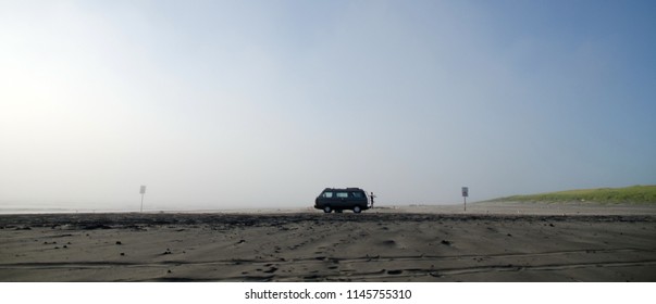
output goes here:
[[314, 200], [314, 208], [325, 213], [342, 213], [344, 210], [360, 213], [369, 207], [367, 192], [360, 188], [325, 188]]

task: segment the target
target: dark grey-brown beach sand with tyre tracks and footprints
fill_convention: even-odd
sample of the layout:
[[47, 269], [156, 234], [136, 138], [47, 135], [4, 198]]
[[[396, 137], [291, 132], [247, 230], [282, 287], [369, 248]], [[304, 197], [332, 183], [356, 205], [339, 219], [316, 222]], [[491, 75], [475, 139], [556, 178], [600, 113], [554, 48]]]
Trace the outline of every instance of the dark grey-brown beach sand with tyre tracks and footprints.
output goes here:
[[656, 281], [656, 206], [0, 215], [0, 281]]

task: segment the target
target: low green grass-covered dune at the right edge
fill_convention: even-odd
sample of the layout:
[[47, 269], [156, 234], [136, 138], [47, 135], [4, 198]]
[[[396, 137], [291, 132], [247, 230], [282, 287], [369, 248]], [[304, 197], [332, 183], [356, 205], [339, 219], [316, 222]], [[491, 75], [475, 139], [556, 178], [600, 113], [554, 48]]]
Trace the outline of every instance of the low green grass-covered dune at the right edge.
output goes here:
[[512, 195], [493, 201], [656, 203], [656, 186], [568, 190], [530, 195]]

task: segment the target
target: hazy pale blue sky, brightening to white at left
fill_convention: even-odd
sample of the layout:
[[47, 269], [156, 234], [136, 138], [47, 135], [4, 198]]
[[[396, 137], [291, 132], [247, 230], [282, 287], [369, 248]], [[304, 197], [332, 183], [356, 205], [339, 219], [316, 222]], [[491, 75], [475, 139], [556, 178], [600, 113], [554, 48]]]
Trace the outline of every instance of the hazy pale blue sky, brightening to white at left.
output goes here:
[[656, 185], [654, 1], [0, 1], [0, 208]]

